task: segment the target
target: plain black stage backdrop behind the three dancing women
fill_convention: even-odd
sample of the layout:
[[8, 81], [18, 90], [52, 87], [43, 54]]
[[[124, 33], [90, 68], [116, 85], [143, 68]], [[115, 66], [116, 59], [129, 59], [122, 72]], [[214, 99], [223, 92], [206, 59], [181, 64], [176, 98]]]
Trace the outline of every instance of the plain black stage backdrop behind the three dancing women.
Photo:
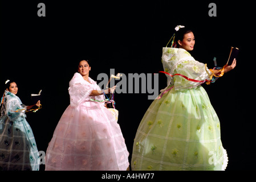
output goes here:
[[[217, 16], [211, 17], [212, 2]], [[46, 16], [38, 16], [39, 3], [46, 6]], [[27, 121], [38, 150], [46, 152], [69, 105], [68, 83], [80, 60], [90, 60], [94, 80], [110, 69], [126, 76], [158, 73], [162, 47], [181, 24], [196, 37], [190, 53], [209, 68], [213, 57], [223, 66], [231, 46], [241, 50], [233, 71], [203, 86], [220, 118], [227, 170], [255, 169], [253, 6], [246, 1], [1, 1], [0, 91], [14, 79], [17, 96], [30, 105], [30, 94], [42, 89], [42, 109], [28, 113]], [[166, 76], [159, 73], [158, 90], [165, 86]], [[130, 160], [137, 127], [152, 102], [148, 95], [115, 94]]]

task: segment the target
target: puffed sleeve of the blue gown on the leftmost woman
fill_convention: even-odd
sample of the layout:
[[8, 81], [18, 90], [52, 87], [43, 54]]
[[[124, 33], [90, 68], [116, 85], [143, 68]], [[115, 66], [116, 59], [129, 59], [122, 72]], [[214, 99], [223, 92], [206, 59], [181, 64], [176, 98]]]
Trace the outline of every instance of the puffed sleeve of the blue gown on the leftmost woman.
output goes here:
[[10, 121], [15, 121], [19, 117], [26, 117], [27, 106], [21, 104], [17, 98], [12, 98], [6, 103], [6, 113]]

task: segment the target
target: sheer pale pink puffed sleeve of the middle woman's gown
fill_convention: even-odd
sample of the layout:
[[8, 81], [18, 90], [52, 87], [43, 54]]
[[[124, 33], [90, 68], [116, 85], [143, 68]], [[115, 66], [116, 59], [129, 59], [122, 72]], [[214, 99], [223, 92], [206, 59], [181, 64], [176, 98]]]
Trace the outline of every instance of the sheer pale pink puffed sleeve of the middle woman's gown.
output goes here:
[[74, 77], [70, 81], [70, 87], [68, 88], [68, 93], [70, 94], [70, 105], [77, 106], [82, 101], [90, 100], [92, 90], [94, 90], [92, 86], [87, 84], [79, 73], [75, 73]]

